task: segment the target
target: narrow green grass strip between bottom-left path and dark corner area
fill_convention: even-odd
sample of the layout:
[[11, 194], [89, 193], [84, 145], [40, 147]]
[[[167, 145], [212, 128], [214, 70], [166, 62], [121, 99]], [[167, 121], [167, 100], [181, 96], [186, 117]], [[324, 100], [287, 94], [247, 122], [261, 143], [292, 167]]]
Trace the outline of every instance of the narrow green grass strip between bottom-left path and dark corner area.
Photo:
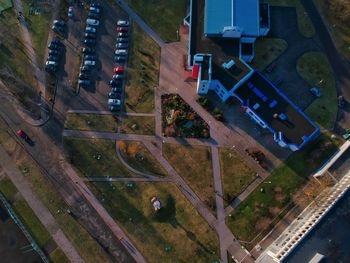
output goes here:
[[12, 204], [16, 214], [29, 229], [35, 241], [40, 247], [44, 247], [51, 239], [50, 233], [46, 230], [39, 218], [24, 200], [17, 200]]

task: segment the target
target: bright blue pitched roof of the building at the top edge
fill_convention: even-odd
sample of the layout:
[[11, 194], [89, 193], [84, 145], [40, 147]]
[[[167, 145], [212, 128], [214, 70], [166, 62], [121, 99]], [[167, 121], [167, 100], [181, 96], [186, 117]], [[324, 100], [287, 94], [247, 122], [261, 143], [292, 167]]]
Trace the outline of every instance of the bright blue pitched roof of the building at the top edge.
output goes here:
[[243, 36], [258, 37], [259, 22], [259, 0], [205, 0], [205, 34], [221, 34], [225, 27], [236, 27]]

